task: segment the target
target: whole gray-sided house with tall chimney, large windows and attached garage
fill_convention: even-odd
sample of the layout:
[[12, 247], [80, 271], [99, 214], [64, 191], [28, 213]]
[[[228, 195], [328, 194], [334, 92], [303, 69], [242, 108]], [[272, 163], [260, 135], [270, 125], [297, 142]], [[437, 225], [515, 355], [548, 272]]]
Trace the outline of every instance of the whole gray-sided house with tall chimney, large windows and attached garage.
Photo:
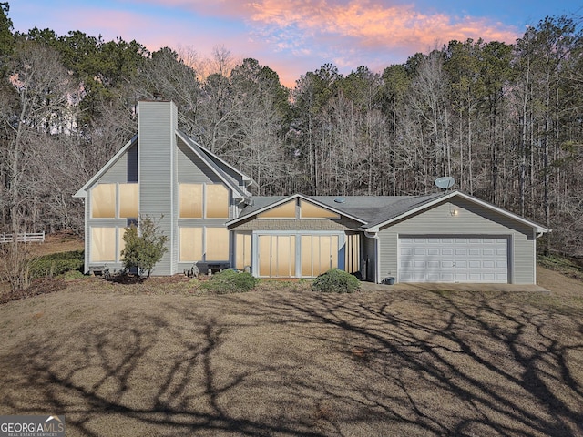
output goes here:
[[173, 102], [138, 102], [138, 135], [75, 195], [85, 198], [86, 271], [120, 269], [124, 229], [148, 215], [169, 237], [154, 275], [199, 263], [261, 278], [339, 268], [376, 282], [536, 282], [536, 239], [548, 229], [465, 193], [257, 197], [253, 186], [180, 132]]

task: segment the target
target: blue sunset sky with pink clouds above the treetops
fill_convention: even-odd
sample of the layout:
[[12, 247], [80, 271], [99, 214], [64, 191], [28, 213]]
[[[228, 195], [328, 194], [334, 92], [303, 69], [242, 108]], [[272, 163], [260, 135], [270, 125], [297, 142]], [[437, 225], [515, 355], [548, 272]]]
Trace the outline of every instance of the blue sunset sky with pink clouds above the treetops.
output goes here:
[[293, 86], [330, 63], [381, 72], [451, 40], [514, 43], [546, 16], [583, 16], [580, 0], [8, 0], [14, 30], [79, 30], [210, 58], [251, 57]]

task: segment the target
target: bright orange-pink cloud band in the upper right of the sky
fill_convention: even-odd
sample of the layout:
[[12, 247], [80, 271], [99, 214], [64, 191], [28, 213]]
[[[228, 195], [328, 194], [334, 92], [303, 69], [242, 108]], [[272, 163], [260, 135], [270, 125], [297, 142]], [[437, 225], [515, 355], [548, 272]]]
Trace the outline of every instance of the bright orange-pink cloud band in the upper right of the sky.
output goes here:
[[413, 5], [385, 5], [387, 2], [351, 0], [346, 4], [322, 1], [260, 0], [252, 4], [249, 19], [256, 25], [278, 28], [295, 26], [314, 37], [350, 37], [353, 44], [367, 48], [409, 47], [426, 50], [435, 42], [482, 37], [514, 42], [517, 30], [473, 17], [424, 14]]

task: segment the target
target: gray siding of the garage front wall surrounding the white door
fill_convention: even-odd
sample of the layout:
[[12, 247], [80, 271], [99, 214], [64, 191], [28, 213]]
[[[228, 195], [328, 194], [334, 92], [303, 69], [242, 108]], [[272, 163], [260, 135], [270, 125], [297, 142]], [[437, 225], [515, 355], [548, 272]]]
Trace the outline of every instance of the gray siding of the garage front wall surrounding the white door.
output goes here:
[[[452, 211], [456, 209], [457, 215]], [[438, 204], [379, 231], [379, 275], [397, 276], [397, 240], [400, 234], [510, 236], [510, 282], [532, 284], [536, 279], [534, 230], [496, 211], [461, 198]]]

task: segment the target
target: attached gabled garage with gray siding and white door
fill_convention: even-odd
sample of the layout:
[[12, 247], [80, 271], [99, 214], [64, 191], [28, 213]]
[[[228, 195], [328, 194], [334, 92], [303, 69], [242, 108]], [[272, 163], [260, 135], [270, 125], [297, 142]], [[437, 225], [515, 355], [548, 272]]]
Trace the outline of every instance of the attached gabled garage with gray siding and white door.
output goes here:
[[548, 229], [458, 191], [395, 204], [364, 230], [374, 280], [537, 283], [537, 237]]

